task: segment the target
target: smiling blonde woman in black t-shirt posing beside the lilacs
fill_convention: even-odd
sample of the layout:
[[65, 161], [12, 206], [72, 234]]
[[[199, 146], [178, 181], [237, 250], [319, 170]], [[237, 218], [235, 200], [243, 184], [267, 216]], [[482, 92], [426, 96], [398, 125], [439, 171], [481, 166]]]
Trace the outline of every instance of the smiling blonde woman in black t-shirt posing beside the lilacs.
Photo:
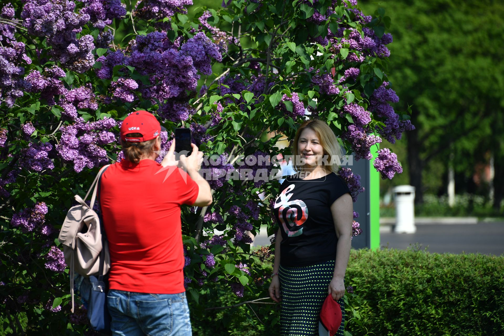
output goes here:
[[[292, 143], [294, 169], [280, 186], [273, 212], [279, 223], [270, 296], [281, 303], [281, 335], [318, 335], [319, 314], [328, 294], [345, 310], [343, 279], [351, 246], [350, 191], [330, 163], [341, 150], [331, 128], [305, 121]], [[298, 158], [301, 162], [298, 162]]]

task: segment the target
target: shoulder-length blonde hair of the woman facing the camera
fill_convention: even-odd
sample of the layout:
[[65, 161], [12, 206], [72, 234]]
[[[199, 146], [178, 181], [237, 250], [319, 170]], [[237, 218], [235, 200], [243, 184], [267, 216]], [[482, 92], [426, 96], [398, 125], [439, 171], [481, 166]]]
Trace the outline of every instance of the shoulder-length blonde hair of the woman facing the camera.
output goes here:
[[[326, 170], [329, 172], [334, 172], [338, 174], [338, 170], [340, 166], [336, 162], [341, 162], [343, 152], [341, 150], [341, 146], [338, 143], [338, 139], [334, 135], [333, 130], [329, 125], [321, 120], [321, 119], [309, 119], [306, 120], [299, 126], [296, 132], [296, 137], [292, 142], [292, 154], [294, 154], [294, 158], [299, 157], [299, 152], [297, 151], [297, 143], [299, 141], [299, 137], [304, 129], [310, 128], [317, 133], [319, 137], [320, 144], [324, 150], [324, 155], [327, 155], [327, 165], [325, 166]], [[335, 159], [333, 161], [333, 158]], [[302, 170], [302, 167], [298, 165], [298, 160], [294, 159], [292, 166], [296, 172]], [[333, 162], [333, 164], [331, 164]]]

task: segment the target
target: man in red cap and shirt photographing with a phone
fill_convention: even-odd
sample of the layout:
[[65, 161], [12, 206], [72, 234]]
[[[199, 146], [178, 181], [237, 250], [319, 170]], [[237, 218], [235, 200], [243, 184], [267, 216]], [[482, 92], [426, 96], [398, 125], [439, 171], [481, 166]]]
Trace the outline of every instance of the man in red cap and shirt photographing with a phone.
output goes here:
[[[161, 125], [147, 111], [120, 128], [124, 159], [101, 178], [100, 203], [111, 268], [108, 308], [113, 335], [191, 335], [183, 281], [180, 206], [208, 206], [199, 174], [203, 153], [174, 160], [174, 141], [161, 164]], [[183, 169], [178, 168], [180, 165]]]

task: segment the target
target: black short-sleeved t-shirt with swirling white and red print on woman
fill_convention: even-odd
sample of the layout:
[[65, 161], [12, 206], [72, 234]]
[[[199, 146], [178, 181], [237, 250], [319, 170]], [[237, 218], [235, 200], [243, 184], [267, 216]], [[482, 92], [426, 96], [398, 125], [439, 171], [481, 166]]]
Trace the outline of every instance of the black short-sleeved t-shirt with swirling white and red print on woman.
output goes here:
[[273, 212], [282, 232], [280, 264], [303, 267], [334, 260], [338, 237], [331, 205], [350, 192], [345, 181], [335, 173], [312, 180], [292, 175], [279, 191]]

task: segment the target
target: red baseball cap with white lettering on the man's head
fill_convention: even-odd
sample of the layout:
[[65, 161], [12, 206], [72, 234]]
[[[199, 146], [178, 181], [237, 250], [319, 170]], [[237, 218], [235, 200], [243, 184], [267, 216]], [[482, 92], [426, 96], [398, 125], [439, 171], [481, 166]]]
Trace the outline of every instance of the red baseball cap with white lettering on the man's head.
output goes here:
[[[135, 111], [127, 116], [121, 124], [121, 140], [131, 143], [141, 143], [149, 141], [160, 135], [162, 130], [166, 130], [154, 114], [147, 111]], [[143, 137], [126, 137], [128, 133], [140, 133]]]

